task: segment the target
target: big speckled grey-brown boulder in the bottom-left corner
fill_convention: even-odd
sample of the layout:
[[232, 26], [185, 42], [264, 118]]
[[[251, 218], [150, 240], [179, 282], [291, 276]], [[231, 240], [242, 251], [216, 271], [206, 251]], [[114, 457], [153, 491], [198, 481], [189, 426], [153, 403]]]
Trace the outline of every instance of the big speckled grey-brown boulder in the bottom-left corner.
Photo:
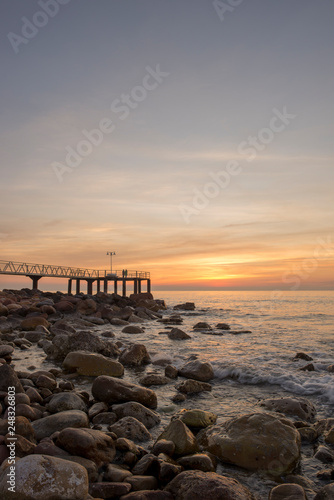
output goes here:
[[[15, 464], [15, 492], [7, 483], [10, 465], [0, 469], [2, 500], [83, 500], [88, 494], [88, 474], [74, 462], [47, 455], [28, 455]], [[10, 477], [10, 476], [9, 476]]]

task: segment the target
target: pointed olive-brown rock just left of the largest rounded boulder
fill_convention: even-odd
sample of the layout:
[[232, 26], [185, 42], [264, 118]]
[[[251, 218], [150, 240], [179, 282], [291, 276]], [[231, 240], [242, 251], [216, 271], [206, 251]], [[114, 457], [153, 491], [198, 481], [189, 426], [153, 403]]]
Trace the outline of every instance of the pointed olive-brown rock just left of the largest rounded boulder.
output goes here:
[[165, 439], [175, 445], [175, 455], [190, 455], [199, 451], [195, 436], [181, 420], [173, 420], [160, 434], [157, 441]]

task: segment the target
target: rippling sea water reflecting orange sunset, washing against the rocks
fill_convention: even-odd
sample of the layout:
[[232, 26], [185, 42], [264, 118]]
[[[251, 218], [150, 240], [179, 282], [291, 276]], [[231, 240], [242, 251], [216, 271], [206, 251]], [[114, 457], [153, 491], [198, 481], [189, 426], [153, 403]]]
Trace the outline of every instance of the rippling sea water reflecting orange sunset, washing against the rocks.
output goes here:
[[[135, 335], [123, 333], [119, 326], [92, 328], [99, 335], [112, 330], [122, 348], [133, 342], [146, 346], [152, 364], [127, 368], [125, 372], [125, 378], [135, 383], [146, 373], [163, 374], [167, 363], [177, 368], [191, 359], [212, 364], [211, 392], [174, 403], [175, 386], [181, 379], [153, 387], [162, 419], [159, 428], [151, 429], [153, 438], [181, 408], [212, 411], [218, 416], [217, 423], [222, 423], [246, 413], [265, 411], [261, 406], [264, 399], [297, 396], [315, 405], [317, 420], [334, 416], [334, 373], [328, 371], [334, 364], [333, 291], [287, 291], [275, 295], [265, 291], [159, 291], [154, 292], [154, 298], [165, 301], [164, 317], [181, 315], [183, 322], [175, 327], [188, 333], [190, 339], [169, 339], [166, 333], [173, 325], [158, 321], [143, 323], [144, 332]], [[193, 302], [195, 309], [174, 310], [174, 306], [185, 302]], [[194, 330], [198, 322], [208, 323], [211, 330]], [[230, 330], [217, 329], [219, 323], [228, 324]], [[296, 359], [297, 353], [305, 353], [312, 360]], [[33, 353], [27, 354], [23, 351], [16, 358], [20, 369], [32, 362], [38, 365]], [[310, 363], [313, 371], [304, 371]], [[52, 365], [44, 360], [39, 366], [48, 369]], [[76, 382], [79, 389], [88, 391], [91, 383], [84, 378]], [[299, 473], [319, 488], [321, 481], [316, 473], [324, 464], [313, 459], [312, 446], [303, 447]], [[218, 472], [237, 478], [259, 499], [268, 498], [268, 492], [276, 485], [270, 478], [233, 466], [219, 465]]]

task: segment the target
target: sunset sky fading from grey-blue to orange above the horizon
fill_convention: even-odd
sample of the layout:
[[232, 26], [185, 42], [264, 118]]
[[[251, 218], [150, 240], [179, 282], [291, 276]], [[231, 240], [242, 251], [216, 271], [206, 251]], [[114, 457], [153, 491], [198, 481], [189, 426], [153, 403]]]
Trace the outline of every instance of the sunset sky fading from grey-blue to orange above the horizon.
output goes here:
[[0, 260], [333, 290], [333, 20], [332, 0], [3, 1]]

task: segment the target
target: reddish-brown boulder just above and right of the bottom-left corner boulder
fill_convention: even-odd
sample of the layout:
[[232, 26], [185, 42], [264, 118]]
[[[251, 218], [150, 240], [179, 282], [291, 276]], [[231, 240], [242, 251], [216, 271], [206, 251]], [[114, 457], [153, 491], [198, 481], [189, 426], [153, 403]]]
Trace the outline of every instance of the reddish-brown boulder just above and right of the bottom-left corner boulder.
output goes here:
[[112, 462], [116, 455], [112, 438], [94, 429], [63, 429], [58, 435], [56, 445], [71, 455], [92, 460], [98, 467]]

